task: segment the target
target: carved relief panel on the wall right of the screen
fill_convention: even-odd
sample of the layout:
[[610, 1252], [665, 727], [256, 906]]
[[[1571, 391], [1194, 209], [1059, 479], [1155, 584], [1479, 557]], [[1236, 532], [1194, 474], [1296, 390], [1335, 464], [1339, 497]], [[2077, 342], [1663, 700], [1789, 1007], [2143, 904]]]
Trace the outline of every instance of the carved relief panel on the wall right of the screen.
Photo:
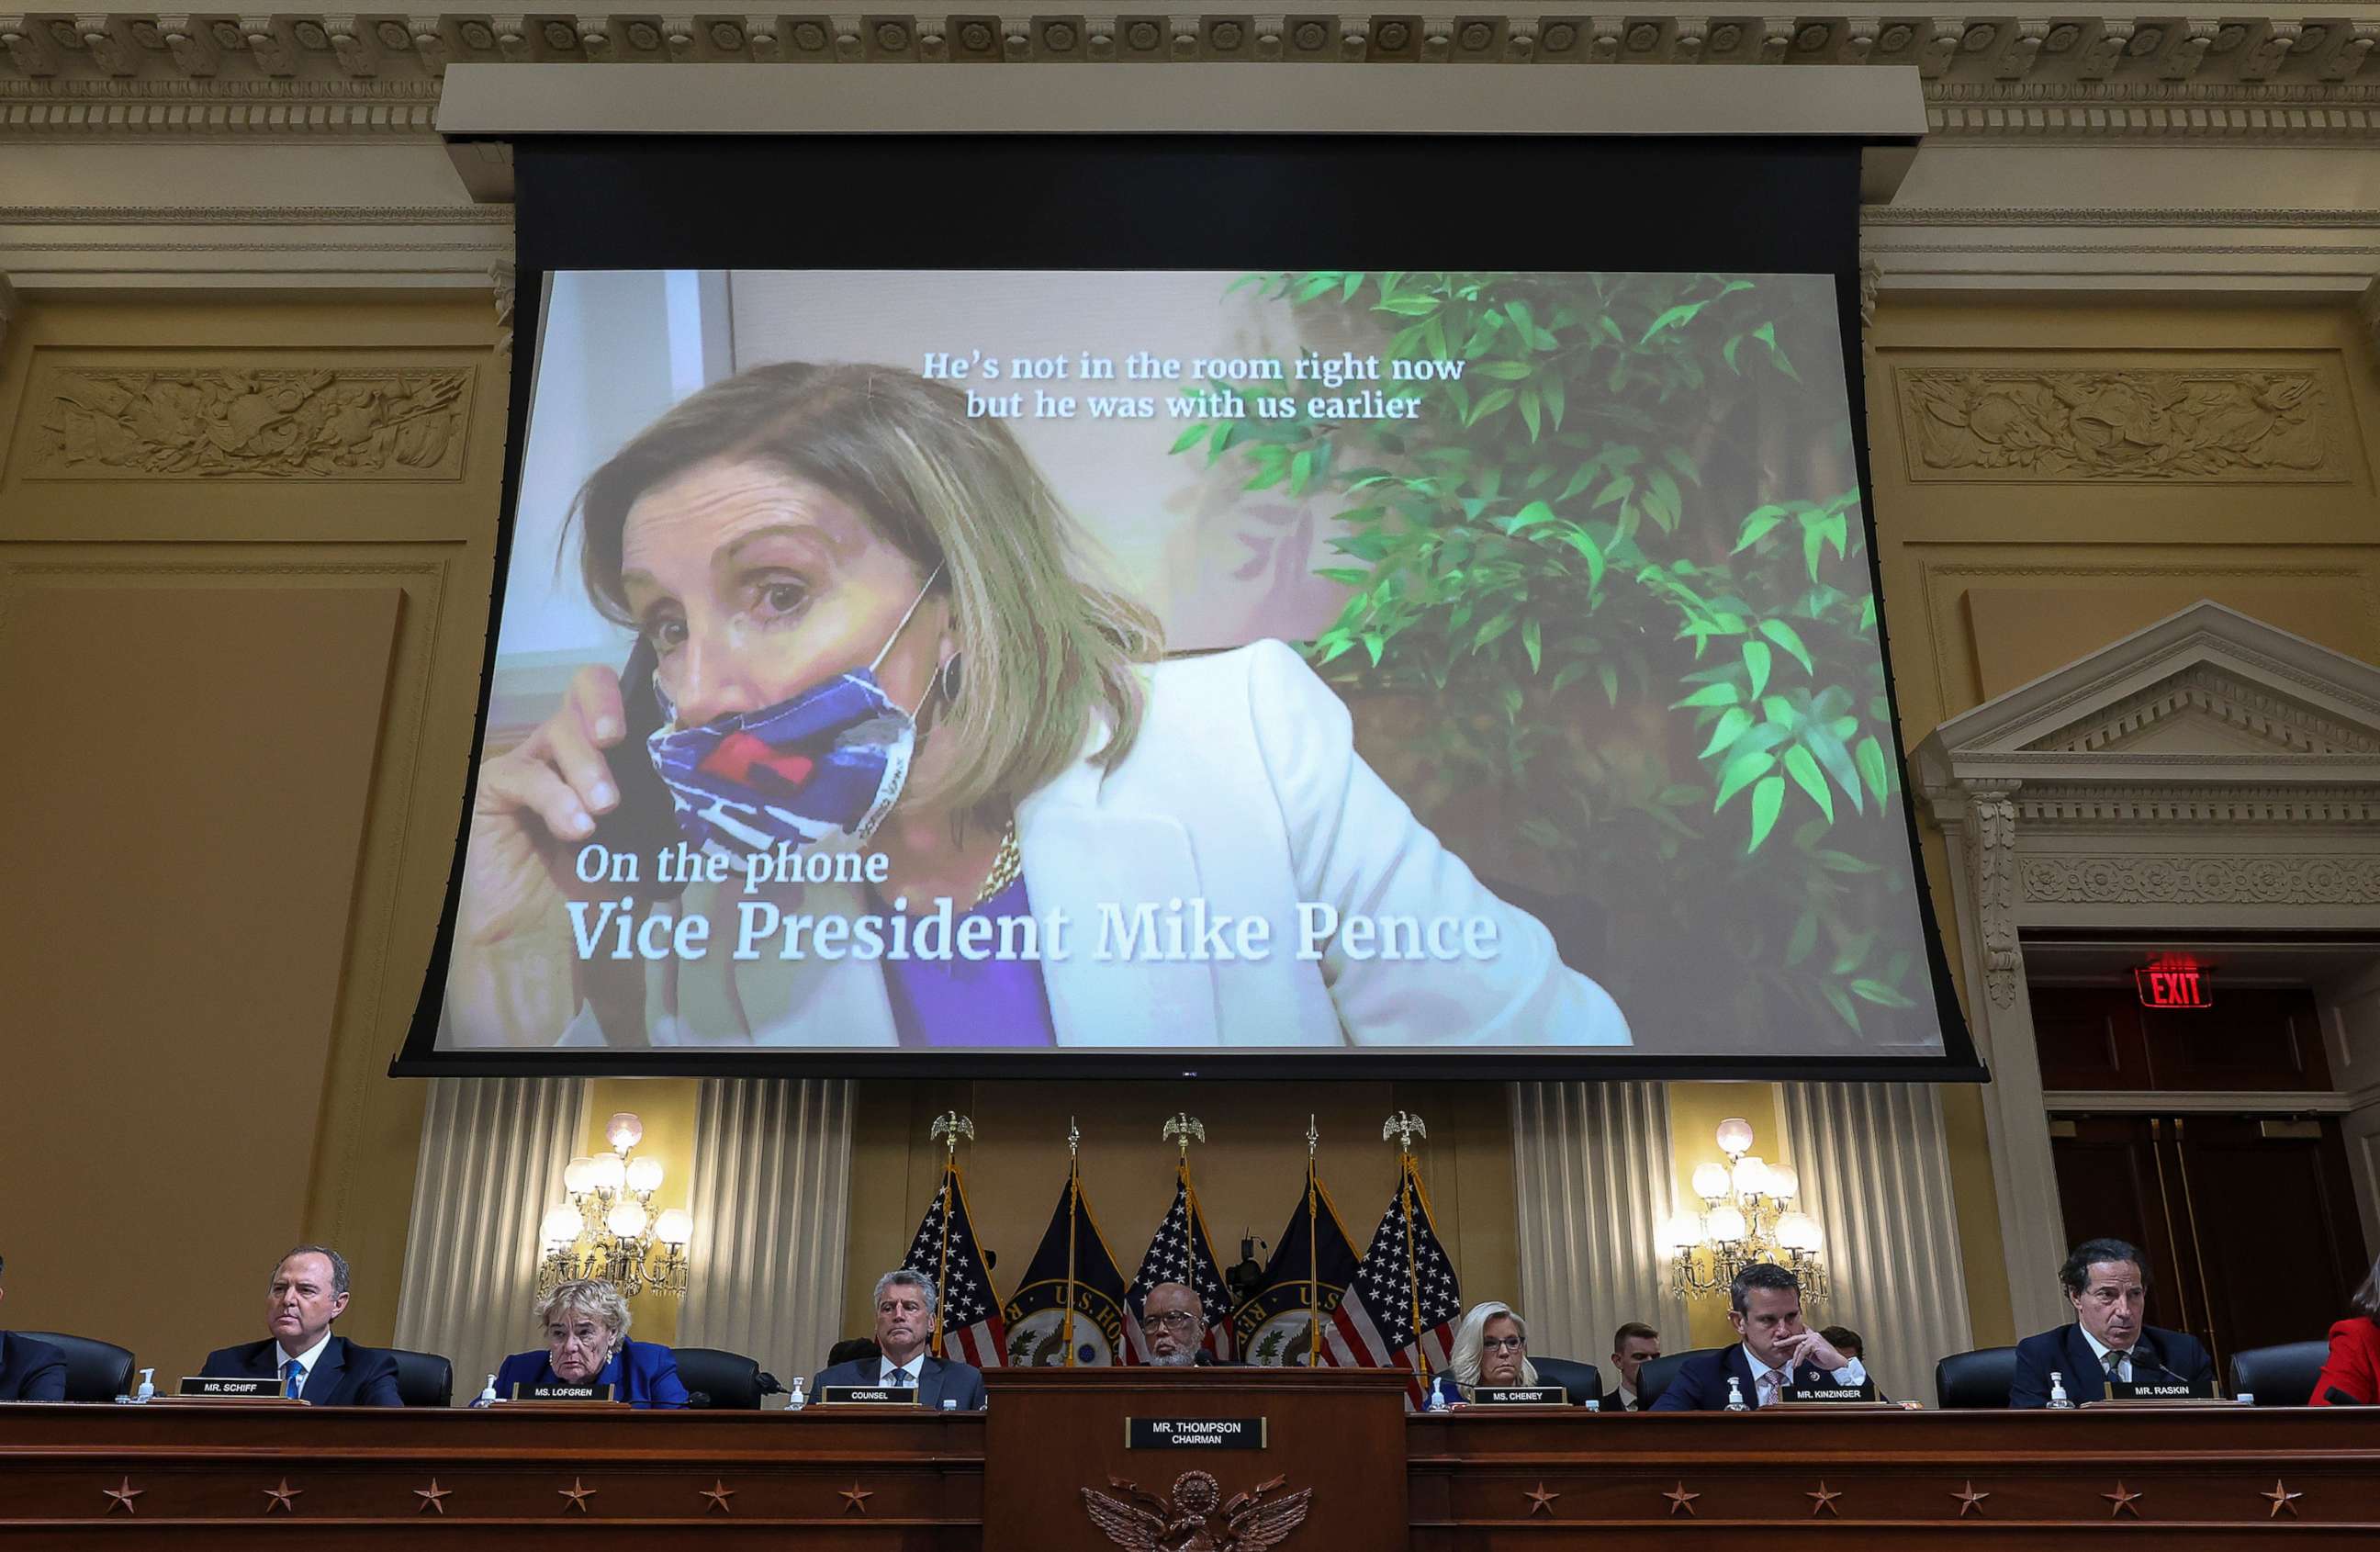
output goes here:
[[1897, 364], [1911, 481], [2347, 483], [2337, 364]]

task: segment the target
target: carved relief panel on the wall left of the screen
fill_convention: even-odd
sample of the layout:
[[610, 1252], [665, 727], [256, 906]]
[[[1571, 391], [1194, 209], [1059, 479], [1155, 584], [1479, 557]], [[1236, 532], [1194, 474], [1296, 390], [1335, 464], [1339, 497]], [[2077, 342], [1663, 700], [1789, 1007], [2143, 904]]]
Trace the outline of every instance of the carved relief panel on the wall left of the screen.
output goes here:
[[38, 364], [21, 478], [450, 481], [471, 371]]

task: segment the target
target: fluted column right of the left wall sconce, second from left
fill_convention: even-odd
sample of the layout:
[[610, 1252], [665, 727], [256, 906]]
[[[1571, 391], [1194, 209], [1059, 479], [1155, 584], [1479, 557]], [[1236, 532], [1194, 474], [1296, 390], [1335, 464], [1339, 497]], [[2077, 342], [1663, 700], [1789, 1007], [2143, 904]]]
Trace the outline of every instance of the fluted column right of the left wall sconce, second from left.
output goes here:
[[793, 1383], [843, 1328], [852, 1085], [712, 1078], [695, 1112], [695, 1238], [678, 1345], [726, 1347]]

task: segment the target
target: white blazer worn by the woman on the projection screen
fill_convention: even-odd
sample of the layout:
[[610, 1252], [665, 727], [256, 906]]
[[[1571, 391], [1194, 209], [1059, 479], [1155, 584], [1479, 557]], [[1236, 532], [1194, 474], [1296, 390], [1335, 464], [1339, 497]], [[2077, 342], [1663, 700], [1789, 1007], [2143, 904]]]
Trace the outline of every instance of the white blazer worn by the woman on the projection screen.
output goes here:
[[[1147, 669], [1147, 712], [1130, 755], [1085, 759], [1016, 805], [1033, 914], [1064, 912], [1064, 957], [1040, 959], [1061, 1047], [1333, 1045], [1628, 1045], [1609, 993], [1554, 955], [1552, 933], [1504, 905], [1438, 843], [1354, 752], [1340, 697], [1288, 645], [1188, 657]], [[733, 959], [740, 878], [697, 885], [685, 909], [712, 916], [709, 955], [662, 962], [647, 988], [654, 1045], [897, 1045], [883, 962]], [[854, 885], [769, 895], [785, 916], [864, 914]], [[1261, 916], [1261, 957], [1121, 957], [1102, 909], [1159, 924], [1192, 902], [1207, 919]], [[1299, 905], [1347, 916], [1452, 919], [1492, 931], [1492, 957], [1378, 959], [1345, 931], [1302, 959]], [[1192, 933], [1185, 928], [1185, 938]], [[1109, 957], [1100, 957], [1107, 947]], [[600, 1045], [581, 1012], [564, 1045]]]

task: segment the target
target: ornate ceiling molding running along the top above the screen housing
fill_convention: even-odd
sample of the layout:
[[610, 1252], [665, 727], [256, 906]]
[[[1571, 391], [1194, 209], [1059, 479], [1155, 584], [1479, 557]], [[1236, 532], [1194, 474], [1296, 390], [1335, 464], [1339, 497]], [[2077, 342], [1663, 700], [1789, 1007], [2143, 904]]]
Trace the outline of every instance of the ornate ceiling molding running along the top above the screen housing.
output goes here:
[[2380, 140], [2380, 5], [1992, 14], [0, 14], [0, 138], [431, 138], [447, 64], [1902, 64], [1937, 138]]

